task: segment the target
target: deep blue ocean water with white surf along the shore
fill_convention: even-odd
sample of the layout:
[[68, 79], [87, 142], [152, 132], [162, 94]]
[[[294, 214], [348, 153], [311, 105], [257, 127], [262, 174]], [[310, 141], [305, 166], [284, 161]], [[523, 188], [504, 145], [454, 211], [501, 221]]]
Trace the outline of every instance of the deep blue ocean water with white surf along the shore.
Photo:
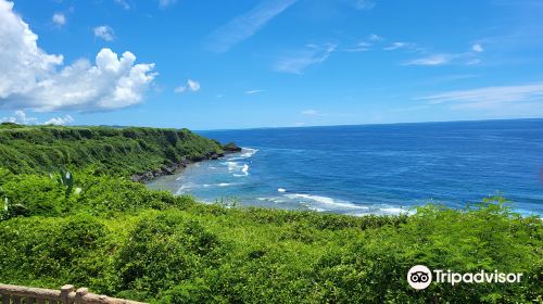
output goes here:
[[500, 193], [543, 214], [543, 119], [201, 131], [242, 153], [190, 165], [150, 188], [214, 202], [351, 215]]

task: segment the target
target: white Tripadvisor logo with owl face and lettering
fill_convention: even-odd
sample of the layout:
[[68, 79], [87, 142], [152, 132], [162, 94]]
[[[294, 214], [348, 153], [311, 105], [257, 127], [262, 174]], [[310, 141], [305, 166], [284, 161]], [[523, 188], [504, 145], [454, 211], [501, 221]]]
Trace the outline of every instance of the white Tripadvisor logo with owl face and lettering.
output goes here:
[[407, 271], [407, 282], [414, 289], [420, 290], [437, 283], [519, 283], [522, 274], [505, 274], [497, 270], [458, 274], [451, 270], [433, 269], [431, 271], [425, 265], [415, 265]]

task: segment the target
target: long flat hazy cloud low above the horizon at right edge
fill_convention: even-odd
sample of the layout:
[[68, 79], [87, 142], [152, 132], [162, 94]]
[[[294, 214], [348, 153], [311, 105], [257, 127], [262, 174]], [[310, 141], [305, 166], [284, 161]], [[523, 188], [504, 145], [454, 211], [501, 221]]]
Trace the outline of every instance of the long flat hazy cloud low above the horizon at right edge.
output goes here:
[[543, 83], [447, 91], [418, 99], [427, 100], [431, 104], [452, 102], [456, 107], [506, 110], [507, 106], [515, 104], [515, 106], [526, 105], [526, 110], [529, 110], [533, 104], [542, 107]]

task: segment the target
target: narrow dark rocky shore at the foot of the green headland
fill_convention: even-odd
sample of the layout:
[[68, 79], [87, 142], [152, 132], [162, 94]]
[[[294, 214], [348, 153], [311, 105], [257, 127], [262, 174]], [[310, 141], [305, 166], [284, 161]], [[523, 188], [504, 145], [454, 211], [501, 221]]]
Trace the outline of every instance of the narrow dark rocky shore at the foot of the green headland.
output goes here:
[[219, 157], [225, 156], [226, 154], [231, 154], [231, 153], [238, 153], [241, 152], [241, 148], [236, 145], [233, 142], [229, 142], [227, 144], [223, 145], [223, 153], [211, 153], [209, 155], [205, 155], [204, 157], [198, 157], [198, 159], [192, 159], [188, 160], [187, 157], [184, 157], [180, 162], [173, 163], [171, 165], [163, 165], [162, 167], [154, 169], [154, 170], [149, 170], [143, 174], [136, 174], [130, 177], [132, 181], [137, 182], [147, 182], [150, 181], [154, 178], [165, 176], [165, 175], [173, 175], [178, 173], [180, 169], [186, 168], [189, 164], [191, 163], [198, 163], [201, 161], [206, 161], [206, 160], [217, 160]]

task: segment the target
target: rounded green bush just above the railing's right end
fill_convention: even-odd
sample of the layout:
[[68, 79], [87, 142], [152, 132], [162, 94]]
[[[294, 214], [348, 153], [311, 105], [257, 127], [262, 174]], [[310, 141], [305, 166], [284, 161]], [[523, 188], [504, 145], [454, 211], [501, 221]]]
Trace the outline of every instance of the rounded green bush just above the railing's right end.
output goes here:
[[157, 294], [213, 265], [219, 249], [215, 235], [179, 213], [144, 218], [119, 250], [119, 289]]

